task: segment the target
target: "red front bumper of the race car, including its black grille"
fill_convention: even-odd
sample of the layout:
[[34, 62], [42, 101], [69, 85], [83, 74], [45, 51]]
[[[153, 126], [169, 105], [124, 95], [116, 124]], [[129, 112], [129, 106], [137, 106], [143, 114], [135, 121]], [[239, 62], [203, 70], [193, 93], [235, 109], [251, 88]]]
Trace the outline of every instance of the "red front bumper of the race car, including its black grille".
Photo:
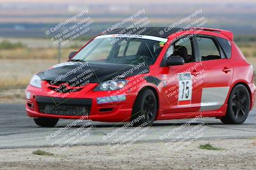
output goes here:
[[[97, 85], [97, 84], [95, 84]], [[49, 117], [67, 119], [88, 119], [101, 122], [129, 122], [132, 106], [138, 93], [125, 95], [125, 101], [97, 103], [98, 97], [114, 96], [108, 92], [93, 92], [95, 85], [79, 91], [58, 96], [46, 87], [38, 89], [28, 85], [26, 111], [29, 117]], [[118, 95], [118, 94], [117, 94]]]

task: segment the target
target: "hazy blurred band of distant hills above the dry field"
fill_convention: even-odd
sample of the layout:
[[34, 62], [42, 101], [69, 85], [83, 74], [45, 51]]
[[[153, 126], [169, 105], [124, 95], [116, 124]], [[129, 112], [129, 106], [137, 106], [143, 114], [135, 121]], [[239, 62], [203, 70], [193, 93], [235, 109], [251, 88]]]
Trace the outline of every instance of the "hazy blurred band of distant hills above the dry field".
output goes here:
[[[148, 26], [168, 26], [202, 9], [198, 17], [207, 18], [207, 27], [234, 31], [237, 35], [256, 34], [256, 1], [103, 1], [90, 3], [81, 1], [0, 1], [0, 36], [45, 37], [44, 29], [56, 25], [88, 9], [94, 24], [90, 34], [97, 34], [109, 25], [130, 17], [136, 11], [145, 13], [134, 19], [148, 17]], [[84, 16], [85, 17], [85, 16]], [[79, 20], [76, 20], [76, 22]], [[191, 22], [191, 21], [189, 21]], [[184, 26], [185, 22], [180, 26]], [[127, 22], [122, 26], [131, 24]], [[66, 27], [70, 25], [65, 25]]]

